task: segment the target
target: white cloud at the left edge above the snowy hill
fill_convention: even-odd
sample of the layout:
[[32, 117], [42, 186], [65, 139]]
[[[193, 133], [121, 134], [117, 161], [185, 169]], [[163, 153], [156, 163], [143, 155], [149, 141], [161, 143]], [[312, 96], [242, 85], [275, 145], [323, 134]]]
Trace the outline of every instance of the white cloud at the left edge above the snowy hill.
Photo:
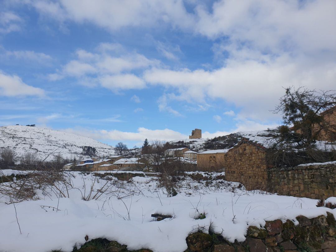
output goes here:
[[7, 75], [0, 71], [0, 95], [44, 97], [45, 93], [41, 88], [27, 85], [17, 75]]

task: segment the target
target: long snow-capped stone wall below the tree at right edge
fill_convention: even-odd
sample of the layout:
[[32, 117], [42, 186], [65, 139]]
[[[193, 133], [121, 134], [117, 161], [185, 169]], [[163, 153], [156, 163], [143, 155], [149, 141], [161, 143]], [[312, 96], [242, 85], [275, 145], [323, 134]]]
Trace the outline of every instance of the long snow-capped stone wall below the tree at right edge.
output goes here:
[[336, 196], [335, 164], [271, 168], [268, 179], [271, 190], [282, 195], [312, 199]]

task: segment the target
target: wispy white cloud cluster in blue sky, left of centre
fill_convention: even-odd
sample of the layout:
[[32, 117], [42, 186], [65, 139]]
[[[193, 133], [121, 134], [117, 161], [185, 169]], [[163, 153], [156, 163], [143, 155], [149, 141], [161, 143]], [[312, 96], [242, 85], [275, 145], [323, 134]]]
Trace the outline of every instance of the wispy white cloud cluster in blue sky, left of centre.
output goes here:
[[122, 55], [116, 56], [115, 54], [119, 54], [115, 52], [118, 47], [119, 44], [101, 43], [96, 48], [97, 53], [78, 49], [77, 59], [69, 61], [55, 73], [49, 74], [49, 80], [57, 81], [73, 77], [79, 84], [90, 87], [100, 84], [114, 92], [145, 88], [144, 80], [132, 71], [159, 66], [160, 61], [148, 59], [136, 52], [127, 53], [125, 50], [122, 50]]

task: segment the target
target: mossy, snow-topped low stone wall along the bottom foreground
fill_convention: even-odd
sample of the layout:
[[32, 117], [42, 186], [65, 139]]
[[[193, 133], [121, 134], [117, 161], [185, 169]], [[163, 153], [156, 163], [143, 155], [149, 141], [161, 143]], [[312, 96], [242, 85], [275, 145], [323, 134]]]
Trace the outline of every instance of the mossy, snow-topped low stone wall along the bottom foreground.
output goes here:
[[[336, 251], [336, 221], [331, 212], [308, 219], [297, 216], [298, 225], [292, 220], [266, 221], [263, 228], [249, 226], [246, 241], [229, 243], [220, 234], [201, 232], [187, 236], [187, 250], [194, 252], [294, 252], [294, 251]], [[172, 240], [172, 242], [174, 242]], [[119, 244], [106, 239], [87, 242], [78, 252], [127, 252], [127, 244]], [[152, 252], [149, 249], [136, 250]], [[182, 252], [182, 251], [181, 251]]]

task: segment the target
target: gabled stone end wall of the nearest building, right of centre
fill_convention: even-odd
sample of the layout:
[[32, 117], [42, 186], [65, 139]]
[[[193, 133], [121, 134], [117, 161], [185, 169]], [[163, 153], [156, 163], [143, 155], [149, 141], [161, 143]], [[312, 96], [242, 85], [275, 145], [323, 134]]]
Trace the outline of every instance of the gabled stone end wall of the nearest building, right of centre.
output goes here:
[[267, 190], [266, 148], [243, 141], [225, 153], [227, 181], [242, 183], [247, 190]]

